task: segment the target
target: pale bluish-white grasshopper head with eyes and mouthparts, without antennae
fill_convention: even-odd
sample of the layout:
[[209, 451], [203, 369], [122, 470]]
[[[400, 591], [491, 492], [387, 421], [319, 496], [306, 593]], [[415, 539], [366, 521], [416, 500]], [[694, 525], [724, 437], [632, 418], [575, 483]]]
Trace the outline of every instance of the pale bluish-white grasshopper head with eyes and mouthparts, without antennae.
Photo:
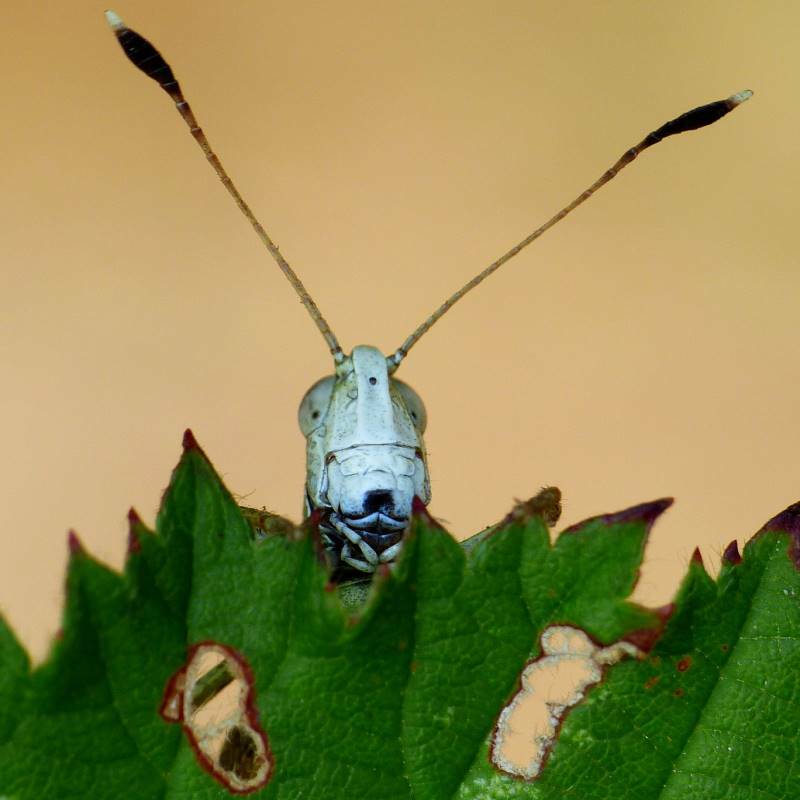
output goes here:
[[390, 377], [380, 350], [360, 345], [306, 392], [298, 418], [306, 510], [324, 512], [320, 530], [335, 557], [374, 572], [400, 551], [414, 496], [430, 501], [425, 407]]

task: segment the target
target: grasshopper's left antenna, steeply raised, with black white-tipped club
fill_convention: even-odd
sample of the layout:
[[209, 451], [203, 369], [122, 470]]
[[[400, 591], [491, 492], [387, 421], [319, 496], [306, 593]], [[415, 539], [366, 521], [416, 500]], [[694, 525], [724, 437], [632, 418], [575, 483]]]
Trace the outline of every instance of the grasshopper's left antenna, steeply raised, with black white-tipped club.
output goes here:
[[281, 272], [283, 272], [286, 279], [292, 284], [292, 287], [300, 297], [300, 302], [306, 307], [308, 313], [311, 315], [311, 319], [316, 323], [320, 333], [328, 344], [334, 362], [336, 364], [341, 363], [344, 360], [344, 354], [342, 353], [342, 348], [339, 346], [336, 336], [325, 321], [325, 317], [322, 316], [320, 310], [317, 308], [317, 304], [311, 299], [311, 295], [306, 290], [306, 287], [303, 286], [303, 282], [297, 277], [297, 273], [295, 273], [286, 259], [281, 255], [278, 246], [269, 238], [269, 235], [264, 230], [261, 223], [250, 210], [250, 206], [245, 203], [244, 198], [239, 194], [239, 190], [234, 186], [233, 181], [222, 166], [222, 162], [211, 149], [211, 145], [208, 143], [205, 133], [203, 133], [202, 129], [197, 124], [194, 113], [186, 102], [186, 98], [183, 96], [181, 87], [178, 85], [178, 81], [175, 79], [175, 75], [169, 64], [167, 64], [161, 53], [159, 53], [144, 36], [140, 36], [136, 31], [132, 31], [115, 12], [110, 10], [106, 11], [106, 21], [111, 26], [111, 30], [114, 31], [117, 41], [119, 41], [122, 46], [125, 55], [133, 62], [134, 66], [138, 67], [145, 75], [156, 81], [156, 83], [158, 83], [158, 85], [173, 99], [175, 108], [178, 109], [184, 122], [189, 126], [189, 131], [192, 136], [194, 136], [197, 144], [200, 145], [203, 153], [205, 153], [208, 163], [214, 168], [214, 172], [217, 173], [223, 186], [228, 190], [231, 197], [233, 197], [236, 205], [239, 206], [239, 210], [247, 217], [253, 229], [258, 234], [258, 238], [261, 239], [261, 242], [267, 250], [269, 250], [270, 255], [281, 268]]

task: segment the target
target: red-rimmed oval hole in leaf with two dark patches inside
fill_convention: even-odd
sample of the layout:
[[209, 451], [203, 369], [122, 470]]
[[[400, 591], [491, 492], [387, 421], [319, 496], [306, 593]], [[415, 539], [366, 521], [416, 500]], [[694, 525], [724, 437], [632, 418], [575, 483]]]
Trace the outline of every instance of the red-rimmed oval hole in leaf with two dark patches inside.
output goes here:
[[183, 726], [200, 765], [233, 794], [266, 786], [274, 764], [253, 684], [241, 653], [201, 642], [170, 678], [161, 703], [162, 718]]

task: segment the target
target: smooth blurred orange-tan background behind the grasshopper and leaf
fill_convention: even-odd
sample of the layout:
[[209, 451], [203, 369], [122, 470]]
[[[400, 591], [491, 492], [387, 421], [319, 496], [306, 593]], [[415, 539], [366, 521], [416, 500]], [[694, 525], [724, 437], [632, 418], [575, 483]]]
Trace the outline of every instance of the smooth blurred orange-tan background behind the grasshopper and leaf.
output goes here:
[[[0, 607], [41, 658], [65, 533], [119, 567], [190, 426], [298, 518], [322, 339], [102, 7], [7, 4]], [[565, 524], [674, 495], [670, 598], [800, 498], [800, 7], [177, 2], [116, 8], [346, 348], [386, 352], [668, 118], [746, 87], [447, 315], [399, 376], [459, 537], [544, 484]]]

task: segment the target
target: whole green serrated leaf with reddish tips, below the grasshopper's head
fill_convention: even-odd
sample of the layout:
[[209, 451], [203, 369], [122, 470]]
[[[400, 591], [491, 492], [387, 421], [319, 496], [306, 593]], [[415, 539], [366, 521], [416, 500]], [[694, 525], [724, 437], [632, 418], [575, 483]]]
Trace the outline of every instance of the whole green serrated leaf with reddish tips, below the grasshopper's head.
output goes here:
[[[47, 662], [31, 672], [0, 618], [0, 796], [800, 796], [800, 582], [787, 557], [800, 511], [743, 560], [726, 551], [716, 583], [694, 561], [665, 623], [627, 598], [668, 505], [551, 544], [522, 504], [469, 548], [418, 509], [398, 564], [353, 612], [314, 525], [243, 515], [187, 432], [156, 533], [131, 516], [122, 575], [71, 539]], [[521, 780], [490, 745], [554, 625], [595, 649], [625, 639], [641, 658], [603, 666], [541, 774]], [[214, 739], [204, 715], [226, 692], [236, 722], [215, 717]]]

